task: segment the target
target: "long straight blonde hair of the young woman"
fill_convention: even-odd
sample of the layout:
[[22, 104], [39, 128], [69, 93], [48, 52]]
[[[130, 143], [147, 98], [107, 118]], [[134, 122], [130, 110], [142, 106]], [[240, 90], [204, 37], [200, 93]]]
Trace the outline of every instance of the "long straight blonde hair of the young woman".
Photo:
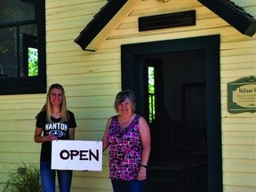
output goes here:
[[46, 101], [44, 103], [44, 106], [40, 110], [40, 112], [36, 115], [36, 119], [37, 119], [37, 116], [41, 112], [46, 111], [46, 121], [47, 122], [52, 122], [52, 120], [51, 120], [51, 116], [52, 116], [52, 103], [51, 103], [51, 100], [50, 100], [52, 89], [59, 89], [62, 92], [62, 102], [60, 104], [60, 114], [61, 114], [60, 122], [66, 122], [69, 119], [69, 114], [68, 114], [68, 109], [67, 109], [67, 100], [66, 100], [64, 88], [60, 84], [52, 84], [49, 87], [49, 90], [47, 92]]

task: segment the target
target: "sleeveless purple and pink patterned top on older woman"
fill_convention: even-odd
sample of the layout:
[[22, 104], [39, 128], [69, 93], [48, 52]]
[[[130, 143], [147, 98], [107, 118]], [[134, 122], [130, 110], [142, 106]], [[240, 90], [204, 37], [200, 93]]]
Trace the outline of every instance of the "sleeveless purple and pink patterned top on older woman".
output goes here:
[[139, 127], [140, 115], [121, 128], [117, 116], [112, 117], [108, 128], [109, 178], [111, 180], [136, 180], [142, 155]]

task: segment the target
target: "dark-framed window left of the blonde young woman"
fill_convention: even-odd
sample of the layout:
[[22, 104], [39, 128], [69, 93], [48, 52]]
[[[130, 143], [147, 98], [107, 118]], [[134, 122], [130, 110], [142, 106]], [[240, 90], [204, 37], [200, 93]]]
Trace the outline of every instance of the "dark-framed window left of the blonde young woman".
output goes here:
[[44, 0], [0, 4], [0, 94], [46, 92]]

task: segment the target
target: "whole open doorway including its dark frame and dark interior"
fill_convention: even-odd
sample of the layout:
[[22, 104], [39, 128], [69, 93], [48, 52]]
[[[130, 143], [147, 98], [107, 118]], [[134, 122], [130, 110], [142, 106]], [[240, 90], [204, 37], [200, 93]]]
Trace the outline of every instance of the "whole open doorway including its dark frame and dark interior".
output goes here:
[[153, 133], [148, 190], [222, 191], [220, 36], [123, 45], [122, 88], [135, 92]]

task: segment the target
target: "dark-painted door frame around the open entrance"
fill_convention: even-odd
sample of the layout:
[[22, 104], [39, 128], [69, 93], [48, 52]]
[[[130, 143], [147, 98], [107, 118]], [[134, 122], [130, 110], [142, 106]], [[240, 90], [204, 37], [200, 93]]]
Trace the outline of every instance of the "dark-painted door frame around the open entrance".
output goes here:
[[122, 89], [136, 95], [136, 112], [145, 115], [143, 57], [149, 54], [204, 50], [206, 86], [206, 127], [209, 192], [223, 191], [221, 107], [220, 107], [220, 35], [121, 45]]

